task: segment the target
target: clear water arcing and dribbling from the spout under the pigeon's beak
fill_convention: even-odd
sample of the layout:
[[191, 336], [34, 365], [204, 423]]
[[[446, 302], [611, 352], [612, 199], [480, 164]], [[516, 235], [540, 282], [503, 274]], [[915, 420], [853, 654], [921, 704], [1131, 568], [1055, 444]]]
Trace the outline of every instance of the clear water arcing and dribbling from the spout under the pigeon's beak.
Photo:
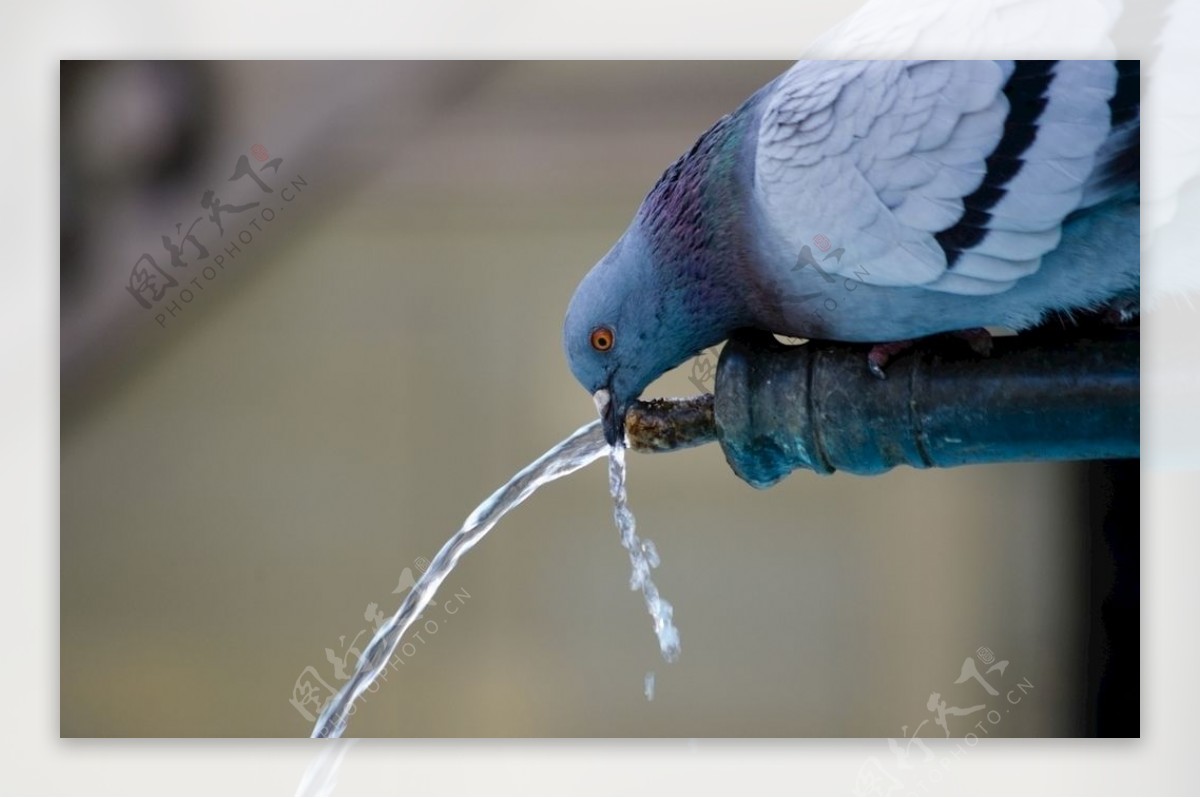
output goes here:
[[605, 443], [600, 421], [593, 421], [580, 427], [566, 440], [529, 463], [504, 487], [475, 508], [470, 517], [463, 522], [462, 528], [451, 535], [433, 562], [430, 563], [425, 574], [421, 575], [421, 578], [404, 596], [396, 614], [379, 626], [376, 636], [362, 652], [362, 656], [359, 658], [354, 674], [325, 704], [312, 730], [312, 737], [342, 736], [354, 702], [379, 678], [396, 653], [396, 647], [400, 646], [404, 632], [425, 611], [438, 587], [458, 564], [462, 556], [482, 540], [497, 521], [542, 485], [572, 474], [605, 454], [610, 454], [608, 486], [616, 506], [613, 517], [618, 529], [620, 529], [620, 541], [629, 551], [629, 559], [634, 565], [630, 587], [635, 590], [641, 589], [646, 596], [646, 606], [654, 618], [654, 631], [659, 636], [662, 656], [668, 662], [674, 661], [679, 655], [679, 632], [671, 623], [671, 605], [659, 596], [659, 590], [650, 580], [650, 569], [659, 564], [654, 544], [649, 540], [640, 540], [635, 532], [634, 514], [630, 512], [625, 498], [625, 449], [624, 446], [610, 448]]

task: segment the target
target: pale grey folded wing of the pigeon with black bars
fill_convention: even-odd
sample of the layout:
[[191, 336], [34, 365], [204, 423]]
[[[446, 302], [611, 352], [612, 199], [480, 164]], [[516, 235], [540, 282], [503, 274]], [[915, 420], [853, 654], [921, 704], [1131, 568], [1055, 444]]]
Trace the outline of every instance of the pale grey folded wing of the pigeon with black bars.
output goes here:
[[761, 104], [751, 194], [768, 262], [835, 246], [827, 271], [876, 286], [1007, 290], [1069, 214], [1128, 185], [1121, 76], [1112, 61], [798, 62]]

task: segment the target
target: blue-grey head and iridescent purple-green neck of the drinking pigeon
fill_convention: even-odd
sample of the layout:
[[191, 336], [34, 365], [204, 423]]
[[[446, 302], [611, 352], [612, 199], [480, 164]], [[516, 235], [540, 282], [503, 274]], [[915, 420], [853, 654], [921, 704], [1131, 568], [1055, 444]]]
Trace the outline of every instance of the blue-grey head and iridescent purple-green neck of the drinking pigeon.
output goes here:
[[624, 440], [625, 412], [647, 385], [746, 320], [737, 130], [726, 116], [664, 173], [566, 308], [566, 360], [611, 445]]

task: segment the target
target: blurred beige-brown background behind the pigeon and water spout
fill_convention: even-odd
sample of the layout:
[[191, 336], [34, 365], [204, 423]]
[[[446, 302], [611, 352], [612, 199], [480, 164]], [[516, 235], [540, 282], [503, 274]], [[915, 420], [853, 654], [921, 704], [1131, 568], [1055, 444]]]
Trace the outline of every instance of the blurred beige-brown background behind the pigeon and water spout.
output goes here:
[[[307, 736], [446, 536], [594, 418], [571, 292], [786, 67], [62, 62], [61, 734]], [[463, 560], [349, 733], [1138, 733], [1098, 625], [1136, 464], [629, 472], [678, 662], [594, 464]]]

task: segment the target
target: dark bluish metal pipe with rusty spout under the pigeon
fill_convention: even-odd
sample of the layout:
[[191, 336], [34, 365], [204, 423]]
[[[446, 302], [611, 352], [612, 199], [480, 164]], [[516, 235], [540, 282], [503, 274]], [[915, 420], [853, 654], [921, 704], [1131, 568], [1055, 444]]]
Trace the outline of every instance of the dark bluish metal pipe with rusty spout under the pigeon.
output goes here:
[[1136, 334], [997, 338], [990, 356], [922, 342], [882, 380], [865, 352], [739, 335], [721, 353], [715, 397], [635, 404], [629, 444], [667, 451], [715, 438], [755, 487], [797, 468], [880, 474], [1139, 455]]

